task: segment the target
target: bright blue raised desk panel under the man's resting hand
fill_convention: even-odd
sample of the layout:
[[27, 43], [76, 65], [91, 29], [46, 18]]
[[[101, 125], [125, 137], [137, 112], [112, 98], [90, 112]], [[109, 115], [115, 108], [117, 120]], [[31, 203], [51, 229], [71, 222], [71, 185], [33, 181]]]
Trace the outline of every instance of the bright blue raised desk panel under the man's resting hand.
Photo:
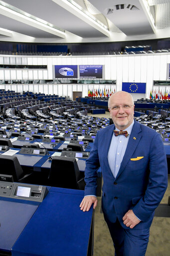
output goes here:
[[83, 191], [50, 189], [13, 245], [12, 256], [86, 256], [93, 208], [81, 211], [82, 198]]

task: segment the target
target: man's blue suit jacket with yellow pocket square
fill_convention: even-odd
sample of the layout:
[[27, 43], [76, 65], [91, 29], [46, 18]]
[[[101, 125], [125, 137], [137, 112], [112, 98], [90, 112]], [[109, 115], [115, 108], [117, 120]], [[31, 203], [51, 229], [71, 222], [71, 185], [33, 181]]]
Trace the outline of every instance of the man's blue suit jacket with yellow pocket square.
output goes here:
[[167, 157], [161, 135], [135, 121], [119, 172], [114, 178], [108, 163], [108, 150], [115, 125], [101, 129], [95, 138], [85, 169], [85, 195], [96, 194], [97, 168], [103, 174], [102, 208], [111, 222], [133, 209], [142, 221], [134, 228], [150, 227], [154, 210], [168, 184]]

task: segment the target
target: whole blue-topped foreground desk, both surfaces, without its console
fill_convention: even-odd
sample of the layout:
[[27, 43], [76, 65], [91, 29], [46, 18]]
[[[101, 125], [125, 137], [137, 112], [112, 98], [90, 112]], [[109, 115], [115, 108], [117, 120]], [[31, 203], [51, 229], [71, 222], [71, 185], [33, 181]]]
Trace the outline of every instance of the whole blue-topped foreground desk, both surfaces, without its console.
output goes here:
[[0, 255], [93, 254], [93, 208], [83, 212], [79, 207], [84, 191], [48, 190], [42, 202], [0, 196]]

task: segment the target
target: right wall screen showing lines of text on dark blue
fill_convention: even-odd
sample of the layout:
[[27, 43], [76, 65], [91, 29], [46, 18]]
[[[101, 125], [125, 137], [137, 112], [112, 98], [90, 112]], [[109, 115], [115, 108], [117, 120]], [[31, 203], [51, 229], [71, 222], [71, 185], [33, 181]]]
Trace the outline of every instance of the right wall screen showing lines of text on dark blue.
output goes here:
[[104, 78], [103, 65], [79, 65], [80, 78]]

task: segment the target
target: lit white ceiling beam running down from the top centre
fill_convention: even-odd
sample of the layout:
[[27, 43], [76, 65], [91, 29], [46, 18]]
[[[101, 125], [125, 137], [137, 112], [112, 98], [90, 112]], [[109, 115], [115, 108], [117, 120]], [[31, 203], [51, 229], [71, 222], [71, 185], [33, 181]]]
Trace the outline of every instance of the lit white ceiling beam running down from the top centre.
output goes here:
[[108, 26], [106, 26], [100, 20], [95, 18], [91, 13], [83, 9], [75, 1], [73, 0], [52, 0], [52, 1], [60, 5], [61, 7], [65, 8], [67, 11], [70, 11], [75, 16], [82, 19], [84, 22], [93, 26], [94, 28], [99, 30], [101, 33], [105, 34], [108, 37], [110, 36], [110, 31], [108, 29]]

